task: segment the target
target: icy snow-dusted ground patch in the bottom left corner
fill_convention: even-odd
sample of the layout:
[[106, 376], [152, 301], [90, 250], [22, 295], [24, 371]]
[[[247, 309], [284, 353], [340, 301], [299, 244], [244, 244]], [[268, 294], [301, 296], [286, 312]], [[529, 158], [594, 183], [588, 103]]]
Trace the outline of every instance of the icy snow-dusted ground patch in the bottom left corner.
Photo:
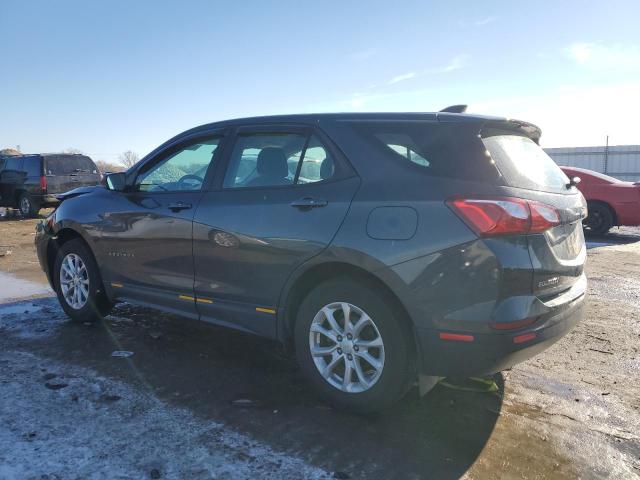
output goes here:
[[2, 479], [149, 478], [154, 469], [170, 479], [330, 478], [86, 368], [5, 351], [0, 371]]

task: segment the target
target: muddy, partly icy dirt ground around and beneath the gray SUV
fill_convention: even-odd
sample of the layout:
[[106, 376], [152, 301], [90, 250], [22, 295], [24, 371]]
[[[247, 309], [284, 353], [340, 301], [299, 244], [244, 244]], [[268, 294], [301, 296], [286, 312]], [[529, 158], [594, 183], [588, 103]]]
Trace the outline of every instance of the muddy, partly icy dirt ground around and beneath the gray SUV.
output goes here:
[[0, 298], [40, 282], [0, 305], [0, 478], [640, 478], [640, 229], [590, 243], [585, 320], [497, 393], [357, 417], [260, 338], [124, 304], [67, 322], [34, 225], [0, 219]]

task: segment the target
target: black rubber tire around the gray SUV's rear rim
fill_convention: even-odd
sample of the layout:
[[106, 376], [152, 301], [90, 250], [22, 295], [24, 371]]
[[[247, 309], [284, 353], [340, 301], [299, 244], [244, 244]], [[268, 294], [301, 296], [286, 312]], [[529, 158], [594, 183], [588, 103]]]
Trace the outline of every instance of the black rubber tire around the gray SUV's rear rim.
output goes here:
[[[366, 312], [384, 342], [382, 373], [373, 386], [358, 393], [342, 391], [329, 383], [321, 375], [311, 355], [310, 329], [314, 317], [324, 306], [336, 302], [347, 302]], [[327, 403], [356, 413], [384, 410], [405, 395], [415, 380], [410, 339], [401, 313], [394, 309], [392, 302], [366, 282], [350, 278], [332, 279], [318, 285], [302, 301], [296, 315], [295, 346], [300, 367]], [[344, 378], [344, 364], [342, 368]]]

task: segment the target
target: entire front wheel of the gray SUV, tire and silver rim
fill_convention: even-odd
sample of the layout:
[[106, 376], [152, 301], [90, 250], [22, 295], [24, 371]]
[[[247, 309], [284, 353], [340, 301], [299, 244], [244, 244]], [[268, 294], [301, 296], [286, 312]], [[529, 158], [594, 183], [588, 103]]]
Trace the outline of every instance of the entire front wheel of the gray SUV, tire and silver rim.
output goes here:
[[[63, 263], [65, 265], [64, 272], [62, 271]], [[75, 275], [69, 274], [70, 270], [73, 273], [74, 265], [79, 267], [76, 268], [79, 273], [77, 275], [78, 283], [75, 285], [73, 280], [70, 281]], [[56, 255], [52, 277], [58, 301], [72, 320], [95, 322], [102, 319], [113, 308], [113, 304], [104, 292], [95, 258], [82, 240], [74, 239], [62, 244]], [[78, 297], [73, 296], [76, 288], [78, 289]]]

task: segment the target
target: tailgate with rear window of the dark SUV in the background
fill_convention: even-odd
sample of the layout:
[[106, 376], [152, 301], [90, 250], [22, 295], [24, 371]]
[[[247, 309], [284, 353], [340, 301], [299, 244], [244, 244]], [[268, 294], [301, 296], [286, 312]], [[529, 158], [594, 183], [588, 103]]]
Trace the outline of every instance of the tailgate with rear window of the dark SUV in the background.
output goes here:
[[100, 183], [98, 168], [86, 155], [45, 155], [44, 172], [48, 194], [64, 193], [77, 187]]

